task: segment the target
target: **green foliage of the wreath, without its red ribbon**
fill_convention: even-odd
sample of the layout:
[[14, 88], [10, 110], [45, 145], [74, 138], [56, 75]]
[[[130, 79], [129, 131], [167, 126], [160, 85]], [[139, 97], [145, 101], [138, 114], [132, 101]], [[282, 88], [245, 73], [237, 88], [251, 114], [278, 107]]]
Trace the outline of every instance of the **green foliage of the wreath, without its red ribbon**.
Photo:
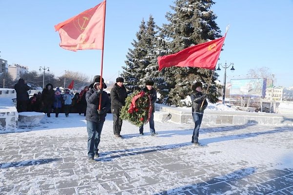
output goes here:
[[134, 91], [131, 95], [127, 96], [125, 100], [125, 106], [122, 107], [120, 111], [120, 118], [122, 120], [127, 120], [131, 124], [140, 127], [143, 124], [146, 124], [148, 121], [148, 109], [149, 109], [149, 98], [147, 94], [145, 96], [138, 98], [135, 101], [135, 109], [132, 113], [128, 112], [132, 98], [138, 95], [139, 91]]

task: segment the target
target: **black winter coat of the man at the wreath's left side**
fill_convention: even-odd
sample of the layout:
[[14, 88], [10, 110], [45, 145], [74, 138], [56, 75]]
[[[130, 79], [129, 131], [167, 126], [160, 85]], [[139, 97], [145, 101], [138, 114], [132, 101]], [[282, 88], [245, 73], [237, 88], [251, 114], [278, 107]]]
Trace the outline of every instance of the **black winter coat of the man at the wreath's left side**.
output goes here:
[[123, 85], [120, 87], [115, 83], [114, 87], [111, 89], [111, 111], [112, 113], [118, 114], [122, 106], [125, 105], [125, 99], [127, 97], [126, 88]]

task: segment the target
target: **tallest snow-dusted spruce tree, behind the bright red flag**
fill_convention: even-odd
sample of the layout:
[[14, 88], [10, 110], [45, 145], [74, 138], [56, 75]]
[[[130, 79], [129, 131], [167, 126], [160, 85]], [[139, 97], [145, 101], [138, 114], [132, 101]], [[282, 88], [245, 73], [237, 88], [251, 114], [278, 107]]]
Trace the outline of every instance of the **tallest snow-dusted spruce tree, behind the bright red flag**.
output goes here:
[[[221, 37], [221, 31], [215, 22], [217, 17], [210, 9], [214, 4], [212, 0], [175, 0], [174, 3], [174, 6], [170, 6], [174, 12], [166, 14], [169, 23], [162, 27], [162, 33], [167, 37], [168, 48], [172, 53]], [[170, 88], [167, 93], [165, 89], [165, 93], [160, 94], [167, 104], [176, 106], [185, 105], [181, 100], [190, 94], [194, 82], [202, 81], [204, 89], [207, 89], [212, 73], [207, 69], [191, 67], [170, 67], [163, 70]], [[212, 103], [220, 96], [218, 89], [221, 89], [221, 85], [215, 83], [217, 78], [218, 74], [215, 72], [208, 92]]]

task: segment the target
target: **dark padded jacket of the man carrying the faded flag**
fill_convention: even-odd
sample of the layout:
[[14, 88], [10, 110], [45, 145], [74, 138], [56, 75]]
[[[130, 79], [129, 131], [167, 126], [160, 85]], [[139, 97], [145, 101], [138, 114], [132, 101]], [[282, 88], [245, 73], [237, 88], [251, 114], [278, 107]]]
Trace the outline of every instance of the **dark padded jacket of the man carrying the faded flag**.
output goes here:
[[[98, 115], [98, 109], [99, 109], [99, 101], [100, 101], [100, 94], [96, 93], [97, 90], [91, 88], [88, 90], [85, 94], [86, 99], [86, 117], [85, 120], [91, 121], [91, 122], [104, 122], [106, 113], [103, 115]], [[103, 91], [102, 93], [102, 101], [101, 101], [101, 109], [106, 110], [108, 112], [110, 110], [110, 99], [108, 98], [107, 92]]]

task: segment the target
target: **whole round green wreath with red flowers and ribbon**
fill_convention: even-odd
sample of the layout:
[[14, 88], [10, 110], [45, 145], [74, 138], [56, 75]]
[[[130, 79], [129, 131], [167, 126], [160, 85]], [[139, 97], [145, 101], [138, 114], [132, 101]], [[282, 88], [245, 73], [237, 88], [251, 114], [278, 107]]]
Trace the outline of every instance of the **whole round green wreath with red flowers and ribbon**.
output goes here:
[[150, 96], [146, 92], [135, 91], [126, 98], [120, 118], [139, 127], [149, 121], [151, 111]]

